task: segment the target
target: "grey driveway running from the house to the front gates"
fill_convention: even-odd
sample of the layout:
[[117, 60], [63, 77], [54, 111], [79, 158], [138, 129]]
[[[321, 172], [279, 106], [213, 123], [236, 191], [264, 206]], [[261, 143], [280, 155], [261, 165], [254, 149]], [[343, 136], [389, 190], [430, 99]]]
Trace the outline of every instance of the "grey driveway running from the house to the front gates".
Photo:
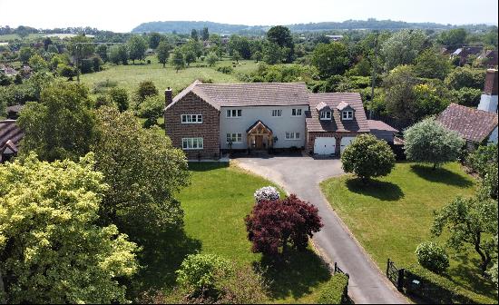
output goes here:
[[338, 266], [350, 275], [348, 295], [352, 300], [357, 304], [407, 303], [406, 298], [367, 257], [320, 192], [319, 182], [344, 173], [339, 160], [297, 156], [238, 158], [236, 161], [240, 167], [278, 183], [286, 192], [296, 193], [318, 207], [324, 227], [314, 235], [314, 244], [328, 262], [338, 262]]

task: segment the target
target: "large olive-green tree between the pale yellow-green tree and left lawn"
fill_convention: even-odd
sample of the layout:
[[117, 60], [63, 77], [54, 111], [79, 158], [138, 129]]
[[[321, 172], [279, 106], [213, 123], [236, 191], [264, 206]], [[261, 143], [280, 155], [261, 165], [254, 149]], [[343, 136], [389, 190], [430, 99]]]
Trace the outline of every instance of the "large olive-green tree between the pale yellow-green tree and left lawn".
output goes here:
[[103, 219], [135, 233], [179, 228], [183, 211], [175, 194], [190, 178], [185, 155], [159, 127], [143, 129], [132, 112], [101, 107], [96, 114], [95, 168], [110, 186]]

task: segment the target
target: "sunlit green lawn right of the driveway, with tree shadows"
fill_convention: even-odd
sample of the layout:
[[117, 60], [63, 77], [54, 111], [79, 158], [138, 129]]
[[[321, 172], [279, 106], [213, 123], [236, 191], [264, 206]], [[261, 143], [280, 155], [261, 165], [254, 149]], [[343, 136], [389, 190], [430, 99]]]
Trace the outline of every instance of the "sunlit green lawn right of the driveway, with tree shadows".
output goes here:
[[[387, 177], [364, 185], [351, 175], [321, 183], [322, 192], [381, 270], [386, 259], [398, 267], [416, 263], [416, 246], [431, 239], [433, 211], [455, 196], [471, 196], [475, 180], [458, 163], [432, 171], [410, 162], [397, 163]], [[445, 237], [438, 239], [445, 244]], [[452, 280], [496, 299], [494, 285], [478, 274], [478, 255], [449, 251]]]

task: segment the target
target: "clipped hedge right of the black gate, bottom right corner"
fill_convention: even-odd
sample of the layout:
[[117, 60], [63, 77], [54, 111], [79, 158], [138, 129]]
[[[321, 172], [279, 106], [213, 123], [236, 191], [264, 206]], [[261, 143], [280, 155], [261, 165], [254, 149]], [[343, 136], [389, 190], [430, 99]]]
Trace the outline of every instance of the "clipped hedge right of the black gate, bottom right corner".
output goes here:
[[[497, 300], [465, 290], [443, 276], [421, 266], [412, 266], [404, 272], [404, 288], [409, 294], [435, 304], [496, 304]], [[414, 280], [419, 281], [415, 283]]]

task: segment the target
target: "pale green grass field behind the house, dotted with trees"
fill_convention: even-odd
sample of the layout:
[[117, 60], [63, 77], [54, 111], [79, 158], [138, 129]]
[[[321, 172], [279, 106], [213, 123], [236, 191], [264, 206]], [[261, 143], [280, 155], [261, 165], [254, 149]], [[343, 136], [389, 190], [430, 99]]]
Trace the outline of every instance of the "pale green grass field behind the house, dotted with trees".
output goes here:
[[151, 80], [156, 84], [160, 92], [167, 87], [171, 87], [176, 94], [196, 79], [201, 81], [211, 80], [213, 83], [240, 83], [236, 74], [246, 74], [256, 70], [258, 67], [254, 61], [240, 61], [240, 64], [234, 68], [232, 74], [222, 74], [216, 70], [218, 66], [232, 65], [232, 61], [224, 59], [218, 62], [215, 67], [209, 67], [206, 62], [198, 61], [176, 73], [170, 64], [167, 64], [163, 68], [162, 64], [158, 63], [155, 55], [148, 56], [147, 59], [150, 59], [152, 64], [144, 64], [143, 62], [136, 62], [136, 64], [132, 64], [131, 62], [128, 65], [106, 64], [104, 71], [81, 75], [81, 81], [92, 89], [94, 84], [110, 80], [117, 82], [119, 86], [132, 93], [137, 89], [139, 83]]

